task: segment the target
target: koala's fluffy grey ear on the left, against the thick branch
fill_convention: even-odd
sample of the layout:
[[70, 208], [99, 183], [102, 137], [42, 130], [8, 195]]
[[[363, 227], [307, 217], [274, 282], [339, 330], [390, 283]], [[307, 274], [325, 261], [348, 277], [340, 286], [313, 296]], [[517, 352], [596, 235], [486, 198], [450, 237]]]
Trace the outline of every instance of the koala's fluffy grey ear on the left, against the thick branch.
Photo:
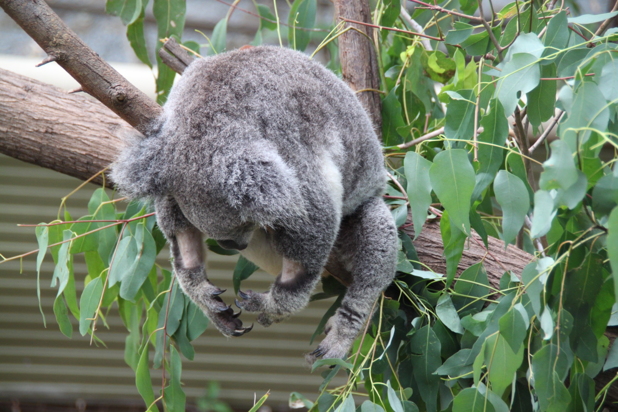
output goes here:
[[119, 192], [135, 198], [167, 193], [163, 146], [158, 134], [144, 137], [137, 131], [121, 136], [124, 147], [111, 165], [110, 176]]

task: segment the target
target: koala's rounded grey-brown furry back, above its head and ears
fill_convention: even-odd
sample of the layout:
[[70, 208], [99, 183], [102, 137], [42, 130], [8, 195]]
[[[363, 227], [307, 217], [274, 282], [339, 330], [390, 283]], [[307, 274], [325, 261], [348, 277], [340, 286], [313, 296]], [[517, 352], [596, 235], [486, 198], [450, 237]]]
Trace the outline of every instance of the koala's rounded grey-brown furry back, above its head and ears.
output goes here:
[[217, 153], [264, 142], [308, 185], [334, 164], [344, 214], [383, 190], [383, 155], [365, 110], [344, 82], [297, 51], [257, 46], [192, 62], [161, 121], [159, 137], [174, 151], [199, 153], [201, 172]]

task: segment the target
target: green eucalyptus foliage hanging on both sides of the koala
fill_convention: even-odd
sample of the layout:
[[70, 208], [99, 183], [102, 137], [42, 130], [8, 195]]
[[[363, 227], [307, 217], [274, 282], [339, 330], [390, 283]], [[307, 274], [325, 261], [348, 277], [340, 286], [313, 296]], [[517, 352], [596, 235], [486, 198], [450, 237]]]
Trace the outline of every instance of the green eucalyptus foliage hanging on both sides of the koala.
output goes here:
[[[180, 36], [184, 1], [153, 3], [159, 37]], [[464, 16], [478, 7], [470, 0], [459, 4]], [[424, 25], [423, 33], [442, 39], [432, 40], [430, 49], [406, 32], [399, 1], [376, 4], [375, 24], [404, 30], [382, 30], [373, 39], [387, 166], [397, 180], [387, 187], [386, 200], [400, 228], [409, 225], [409, 202], [417, 236], [428, 218], [439, 218], [447, 273], [419, 262], [412, 239], [401, 231], [391, 298], [378, 300], [349, 359], [316, 362], [314, 369], [331, 368], [321, 372], [315, 402], [294, 392], [290, 405], [318, 412], [456, 412], [593, 410], [603, 404], [609, 385], [595, 392], [593, 379], [618, 366], [617, 346], [609, 348], [604, 336], [607, 325], [618, 324], [618, 46], [612, 43], [616, 30], [594, 30], [618, 12], [569, 17], [548, 5], [512, 2], [485, 25], [446, 9], [416, 9], [412, 18]], [[147, 0], [108, 0], [107, 10], [127, 24], [135, 53], [150, 66], [146, 6]], [[301, 50], [311, 40], [321, 42], [318, 49], [331, 56], [328, 66], [339, 72], [337, 36], [350, 29], [342, 22], [315, 29], [315, 0], [296, 0], [287, 19], [276, 9], [274, 15], [266, 6], [256, 9], [260, 26], [253, 44], [263, 41], [265, 30]], [[206, 54], [225, 49], [226, 22], [227, 16], [207, 38]], [[158, 63], [162, 102], [174, 74]], [[554, 116], [558, 139], [539, 142], [548, 153], [539, 161], [520, 134], [531, 129], [546, 137]], [[533, 163], [543, 169], [538, 179], [531, 175]], [[130, 202], [119, 212], [119, 200], [98, 189], [88, 216], [72, 220], [65, 212], [64, 220], [38, 226], [37, 270], [49, 248], [58, 286], [54, 314], [69, 337], [73, 315], [80, 333], [99, 341], [97, 319], [116, 304], [129, 331], [125, 360], [146, 408], [155, 411], [163, 401], [166, 410], [184, 410], [179, 352], [193, 359], [190, 342], [208, 320], [172, 273], [155, 265], [165, 241], [151, 206]], [[483, 261], [462, 268], [455, 279], [467, 243], [482, 239], [486, 245], [488, 236], [535, 259], [522, 273], [501, 274], [499, 285], [490, 284]], [[72, 263], [81, 253], [88, 275], [78, 299]], [[239, 259], [235, 290], [255, 270]], [[315, 299], [340, 298], [314, 337], [343, 293], [332, 280], [323, 289]], [[153, 366], [169, 377], [160, 396], [151, 385]], [[347, 384], [330, 388], [338, 373], [347, 374]], [[366, 400], [357, 408], [361, 393]], [[200, 407], [226, 410], [215, 398], [211, 393]]]

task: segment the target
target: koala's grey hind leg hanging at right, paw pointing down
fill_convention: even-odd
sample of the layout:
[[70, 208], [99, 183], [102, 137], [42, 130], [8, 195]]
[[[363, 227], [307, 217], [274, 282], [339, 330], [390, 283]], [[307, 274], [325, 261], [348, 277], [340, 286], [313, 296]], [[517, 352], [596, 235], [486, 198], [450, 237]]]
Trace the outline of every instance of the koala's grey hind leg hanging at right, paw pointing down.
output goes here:
[[341, 306], [326, 325], [326, 338], [306, 358], [345, 358], [376, 299], [394, 278], [397, 230], [381, 198], [367, 200], [341, 223], [334, 253], [352, 273]]

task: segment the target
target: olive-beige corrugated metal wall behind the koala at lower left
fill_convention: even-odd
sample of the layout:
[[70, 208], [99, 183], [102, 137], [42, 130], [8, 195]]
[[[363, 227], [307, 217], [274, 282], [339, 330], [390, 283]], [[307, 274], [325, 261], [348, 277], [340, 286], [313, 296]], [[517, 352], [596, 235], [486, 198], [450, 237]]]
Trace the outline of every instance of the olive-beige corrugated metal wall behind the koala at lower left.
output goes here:
[[[36, 249], [33, 228], [17, 223], [40, 223], [56, 218], [60, 198], [78, 186], [77, 179], [0, 155], [0, 253], [6, 257]], [[84, 187], [68, 202], [72, 217], [87, 215], [87, 202], [95, 189]], [[169, 267], [167, 251], [159, 263]], [[232, 301], [231, 283], [235, 257], [209, 254], [209, 278], [228, 288], [222, 297]], [[78, 294], [86, 273], [83, 260], [75, 260]], [[74, 403], [77, 398], [90, 402], [120, 405], [140, 404], [133, 371], [124, 363], [127, 335], [114, 310], [108, 315], [109, 330], [99, 322], [99, 337], [108, 348], [89, 345], [88, 335], [73, 338], [62, 335], [52, 311], [56, 290], [49, 287], [53, 272], [51, 255], [41, 267], [41, 303], [47, 328], [38, 311], [36, 298], [35, 255], [20, 262], [0, 264], [0, 398], [20, 401], [56, 400]], [[255, 273], [243, 287], [266, 290], [273, 277]], [[252, 405], [254, 392], [260, 398], [267, 390], [267, 404], [274, 410], [287, 409], [291, 391], [315, 400], [321, 382], [318, 372], [311, 374], [302, 354], [326, 308], [332, 301], [310, 304], [284, 324], [263, 328], [256, 324], [252, 332], [227, 339], [209, 327], [195, 340], [195, 360], [183, 361], [182, 381], [187, 400], [204, 393], [209, 380], [221, 384], [221, 398], [240, 409]], [[243, 314], [250, 324], [254, 316]], [[319, 341], [319, 338], [318, 338]], [[314, 344], [315, 346], [315, 344]], [[161, 381], [161, 370], [151, 371], [154, 382]]]

